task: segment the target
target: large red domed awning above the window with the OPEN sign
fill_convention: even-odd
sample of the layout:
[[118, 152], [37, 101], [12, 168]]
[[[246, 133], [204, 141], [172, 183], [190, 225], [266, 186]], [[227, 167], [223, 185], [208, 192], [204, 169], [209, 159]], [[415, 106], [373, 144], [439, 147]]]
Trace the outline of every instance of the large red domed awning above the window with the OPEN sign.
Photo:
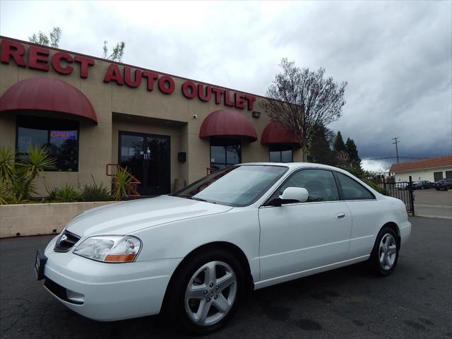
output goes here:
[[55, 78], [30, 78], [8, 88], [0, 97], [0, 112], [16, 109], [73, 114], [97, 124], [90, 100], [73, 85]]

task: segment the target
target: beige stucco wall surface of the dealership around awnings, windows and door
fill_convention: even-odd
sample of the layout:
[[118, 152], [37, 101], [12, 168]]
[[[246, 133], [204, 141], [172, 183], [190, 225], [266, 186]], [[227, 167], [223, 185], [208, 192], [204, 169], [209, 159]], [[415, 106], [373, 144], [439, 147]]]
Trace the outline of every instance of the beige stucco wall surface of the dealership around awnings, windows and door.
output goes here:
[[[21, 42], [28, 50], [28, 43]], [[55, 53], [50, 49], [50, 57]], [[76, 55], [72, 52], [69, 54]], [[28, 52], [25, 54], [28, 63]], [[217, 109], [232, 109], [215, 105], [213, 98], [210, 102], [202, 102], [198, 98], [187, 99], [182, 95], [182, 83], [186, 79], [172, 76], [175, 82], [175, 90], [171, 95], [160, 92], [155, 82], [154, 90], [148, 91], [146, 81], [143, 81], [138, 88], [129, 88], [126, 85], [117, 85], [113, 81], [104, 83], [104, 76], [107, 68], [111, 64], [108, 61], [95, 59], [95, 65], [88, 69], [88, 78], [80, 77], [80, 66], [72, 64], [73, 73], [61, 75], [56, 73], [52, 66], [49, 71], [39, 71], [28, 67], [19, 67], [14, 61], [10, 64], [0, 64], [0, 95], [20, 80], [26, 78], [49, 76], [58, 78], [81, 90], [88, 97], [97, 114], [98, 124], [94, 125], [90, 121], [81, 120], [79, 137], [79, 164], [78, 172], [47, 172], [45, 177], [47, 184], [51, 187], [61, 186], [66, 182], [81, 187], [83, 184], [91, 183], [92, 176], [97, 183], [105, 182], [109, 185], [109, 177], [105, 174], [105, 165], [110, 162], [117, 162], [118, 131], [140, 131], [144, 133], [165, 134], [171, 137], [171, 185], [174, 179], [183, 179], [187, 184], [206, 175], [206, 167], [210, 166], [209, 141], [198, 137], [199, 129], [203, 119], [208, 114]], [[123, 70], [123, 66], [119, 65]], [[158, 73], [158, 72], [155, 72]], [[160, 73], [159, 73], [160, 74]], [[160, 74], [161, 75], [161, 74]], [[234, 91], [231, 91], [233, 97]], [[257, 97], [254, 109], [262, 112], [261, 117], [255, 119], [251, 117], [251, 112], [247, 109], [235, 109], [244, 114], [255, 126], [258, 138], [269, 119], [267, 114], [261, 109], [259, 102], [262, 97]], [[58, 113], [54, 113], [57, 114]], [[119, 115], [115, 115], [119, 114]], [[194, 118], [194, 115], [197, 118]], [[122, 117], [119, 119], [118, 117]], [[132, 119], [123, 119], [130, 116]], [[145, 119], [136, 119], [136, 117]], [[61, 114], [61, 118], [67, 119], [66, 114]], [[135, 119], [135, 120], [134, 120]], [[14, 147], [16, 138], [16, 114], [11, 112], [1, 112], [0, 114], [0, 146]], [[168, 124], [173, 121], [174, 124]], [[177, 162], [177, 153], [186, 152], [186, 163]], [[295, 150], [294, 161], [301, 161], [302, 153]], [[260, 141], [254, 143], [242, 143], [242, 162], [268, 161], [268, 147], [261, 145]], [[38, 193], [45, 195], [44, 185], [40, 179]]]

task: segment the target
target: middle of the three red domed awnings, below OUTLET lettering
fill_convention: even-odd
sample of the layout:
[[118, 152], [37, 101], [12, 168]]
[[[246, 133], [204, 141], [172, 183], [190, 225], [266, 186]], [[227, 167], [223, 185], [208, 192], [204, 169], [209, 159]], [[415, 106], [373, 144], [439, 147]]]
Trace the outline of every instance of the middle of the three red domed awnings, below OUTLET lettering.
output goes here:
[[199, 137], [210, 136], [246, 138], [250, 142], [257, 140], [257, 133], [251, 121], [246, 119], [244, 114], [227, 109], [212, 112], [204, 119]]

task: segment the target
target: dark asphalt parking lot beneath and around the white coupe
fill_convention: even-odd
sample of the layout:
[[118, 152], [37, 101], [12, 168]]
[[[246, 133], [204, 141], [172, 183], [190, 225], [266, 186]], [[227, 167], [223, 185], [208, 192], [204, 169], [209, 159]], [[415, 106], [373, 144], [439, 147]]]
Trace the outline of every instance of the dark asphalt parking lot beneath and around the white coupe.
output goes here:
[[[411, 222], [390, 277], [355, 265], [258, 290], [207, 338], [452, 338], [452, 222]], [[50, 239], [0, 240], [1, 338], [182, 337], [160, 316], [102, 323], [66, 309], [33, 272]]]

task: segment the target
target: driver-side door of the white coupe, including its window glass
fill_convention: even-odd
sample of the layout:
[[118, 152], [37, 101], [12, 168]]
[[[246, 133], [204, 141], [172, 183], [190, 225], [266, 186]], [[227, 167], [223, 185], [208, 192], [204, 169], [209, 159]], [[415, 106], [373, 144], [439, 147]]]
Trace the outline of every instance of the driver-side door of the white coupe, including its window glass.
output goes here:
[[270, 197], [287, 187], [307, 189], [305, 203], [259, 208], [261, 280], [297, 273], [347, 258], [352, 229], [350, 210], [333, 173], [302, 169], [292, 174]]

